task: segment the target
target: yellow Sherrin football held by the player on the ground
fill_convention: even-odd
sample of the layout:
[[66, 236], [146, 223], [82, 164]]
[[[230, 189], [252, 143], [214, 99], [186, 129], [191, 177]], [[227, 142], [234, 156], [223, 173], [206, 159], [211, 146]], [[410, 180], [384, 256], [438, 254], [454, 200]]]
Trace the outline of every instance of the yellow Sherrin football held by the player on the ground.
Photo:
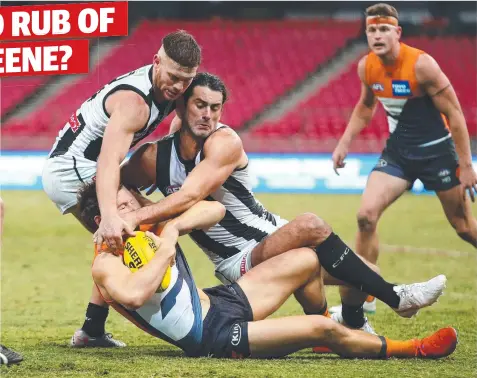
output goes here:
[[[136, 231], [136, 236], [126, 240], [124, 245], [123, 263], [132, 273], [137, 272], [154, 257], [158, 246], [146, 233]], [[157, 289], [158, 293], [165, 291], [171, 283], [171, 267], [167, 267], [164, 279]]]

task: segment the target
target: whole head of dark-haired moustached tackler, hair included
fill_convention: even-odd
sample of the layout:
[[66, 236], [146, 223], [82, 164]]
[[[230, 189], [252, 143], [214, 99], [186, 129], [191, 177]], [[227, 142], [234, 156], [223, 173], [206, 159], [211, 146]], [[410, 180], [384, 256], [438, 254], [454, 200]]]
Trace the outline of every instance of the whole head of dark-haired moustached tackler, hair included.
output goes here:
[[198, 73], [184, 93], [182, 125], [197, 138], [207, 138], [217, 127], [227, 101], [224, 82], [207, 72]]

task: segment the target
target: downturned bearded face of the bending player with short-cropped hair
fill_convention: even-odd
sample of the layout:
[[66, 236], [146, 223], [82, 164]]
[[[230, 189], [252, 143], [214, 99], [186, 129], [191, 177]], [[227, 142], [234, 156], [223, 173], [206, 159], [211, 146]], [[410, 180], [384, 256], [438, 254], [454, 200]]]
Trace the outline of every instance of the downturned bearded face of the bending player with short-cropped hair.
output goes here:
[[167, 56], [162, 59], [157, 57], [154, 64], [156, 65], [156, 87], [167, 101], [177, 100], [197, 74], [197, 67], [183, 67]]

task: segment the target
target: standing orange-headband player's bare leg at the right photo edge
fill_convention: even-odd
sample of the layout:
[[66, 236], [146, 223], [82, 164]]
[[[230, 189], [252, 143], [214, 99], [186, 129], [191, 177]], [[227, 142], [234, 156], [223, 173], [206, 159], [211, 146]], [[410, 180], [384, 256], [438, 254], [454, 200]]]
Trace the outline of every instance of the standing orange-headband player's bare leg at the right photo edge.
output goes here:
[[449, 223], [462, 240], [477, 248], [477, 220], [472, 216], [470, 199], [465, 196], [462, 185], [437, 192]]

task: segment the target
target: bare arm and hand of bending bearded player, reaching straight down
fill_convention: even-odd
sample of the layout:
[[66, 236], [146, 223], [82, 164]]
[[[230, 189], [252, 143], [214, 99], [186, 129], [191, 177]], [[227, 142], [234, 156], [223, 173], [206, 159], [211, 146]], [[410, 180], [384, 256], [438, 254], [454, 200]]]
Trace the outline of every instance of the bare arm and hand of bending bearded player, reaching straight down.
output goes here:
[[119, 166], [129, 151], [134, 133], [147, 123], [149, 106], [137, 93], [119, 91], [106, 100], [106, 111], [110, 118], [103, 137], [96, 176], [101, 224], [95, 239], [99, 246], [104, 241], [110, 248], [119, 249], [122, 247], [122, 231], [132, 233], [117, 213]]

